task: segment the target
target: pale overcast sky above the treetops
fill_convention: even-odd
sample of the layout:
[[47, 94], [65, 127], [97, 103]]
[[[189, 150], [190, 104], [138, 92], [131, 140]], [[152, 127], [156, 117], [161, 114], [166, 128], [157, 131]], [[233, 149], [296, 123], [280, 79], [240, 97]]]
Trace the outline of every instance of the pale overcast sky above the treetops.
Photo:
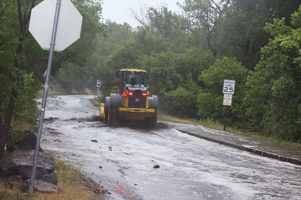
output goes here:
[[111, 19], [119, 24], [127, 22], [132, 27], [138, 26], [135, 19], [131, 17], [130, 8], [139, 10], [140, 5], [147, 4], [152, 7], [161, 7], [167, 5], [169, 10], [181, 13], [181, 9], [177, 6], [177, 2], [183, 3], [184, 0], [104, 0], [102, 16], [104, 21]]

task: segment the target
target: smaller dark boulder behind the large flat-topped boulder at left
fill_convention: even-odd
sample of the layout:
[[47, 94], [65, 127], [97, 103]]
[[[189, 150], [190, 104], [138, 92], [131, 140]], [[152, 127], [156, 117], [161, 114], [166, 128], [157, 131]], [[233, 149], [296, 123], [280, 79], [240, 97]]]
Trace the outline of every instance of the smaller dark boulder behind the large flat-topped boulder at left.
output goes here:
[[[22, 135], [23, 135], [23, 139], [21, 139], [15, 144], [17, 148], [8, 147], [7, 149], [8, 152], [13, 152], [16, 149], [21, 151], [35, 149], [35, 140], [36, 140], [35, 134], [32, 131], [23, 131]], [[41, 147], [39, 147], [39, 151], [42, 152]]]

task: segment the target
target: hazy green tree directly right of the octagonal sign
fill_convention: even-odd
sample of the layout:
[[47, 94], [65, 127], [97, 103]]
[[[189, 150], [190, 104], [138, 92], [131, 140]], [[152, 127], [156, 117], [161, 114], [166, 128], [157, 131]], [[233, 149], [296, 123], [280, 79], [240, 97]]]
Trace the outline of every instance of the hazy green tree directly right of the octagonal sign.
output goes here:
[[59, 81], [72, 91], [91, 86], [94, 79], [94, 54], [98, 50], [98, 40], [103, 37], [105, 25], [100, 22], [102, 0], [74, 0], [81, 15], [83, 25], [81, 38], [63, 52], [57, 54], [58, 65], [54, 68]]

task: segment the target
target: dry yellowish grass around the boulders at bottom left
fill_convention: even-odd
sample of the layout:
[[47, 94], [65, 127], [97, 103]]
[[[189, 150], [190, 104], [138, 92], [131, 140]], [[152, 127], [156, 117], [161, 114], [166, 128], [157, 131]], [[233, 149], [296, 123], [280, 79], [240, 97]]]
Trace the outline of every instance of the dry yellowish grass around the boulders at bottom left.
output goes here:
[[91, 200], [102, 199], [86, 185], [86, 180], [81, 174], [81, 169], [74, 169], [64, 161], [56, 158], [54, 161], [59, 193], [34, 192], [33, 197], [28, 197], [28, 191], [22, 191], [19, 185], [4, 187], [0, 185], [1, 200]]

